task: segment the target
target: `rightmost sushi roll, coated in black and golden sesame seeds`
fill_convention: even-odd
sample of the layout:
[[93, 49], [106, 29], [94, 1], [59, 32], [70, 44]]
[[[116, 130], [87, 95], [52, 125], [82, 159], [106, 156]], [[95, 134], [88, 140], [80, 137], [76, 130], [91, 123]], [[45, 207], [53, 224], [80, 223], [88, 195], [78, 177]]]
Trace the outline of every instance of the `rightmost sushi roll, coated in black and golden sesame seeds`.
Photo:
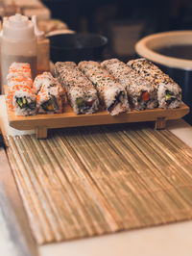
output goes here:
[[174, 109], [180, 107], [180, 86], [155, 64], [142, 58], [128, 62], [128, 65], [147, 81], [156, 85], [159, 108]]

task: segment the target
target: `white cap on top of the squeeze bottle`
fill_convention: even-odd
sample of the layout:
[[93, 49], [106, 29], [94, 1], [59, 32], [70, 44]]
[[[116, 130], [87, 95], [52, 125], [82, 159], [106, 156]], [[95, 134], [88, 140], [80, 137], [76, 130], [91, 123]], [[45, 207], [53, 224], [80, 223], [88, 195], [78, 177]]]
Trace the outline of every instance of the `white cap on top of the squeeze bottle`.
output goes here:
[[15, 40], [35, 38], [34, 23], [20, 13], [6, 17], [3, 20], [3, 37]]

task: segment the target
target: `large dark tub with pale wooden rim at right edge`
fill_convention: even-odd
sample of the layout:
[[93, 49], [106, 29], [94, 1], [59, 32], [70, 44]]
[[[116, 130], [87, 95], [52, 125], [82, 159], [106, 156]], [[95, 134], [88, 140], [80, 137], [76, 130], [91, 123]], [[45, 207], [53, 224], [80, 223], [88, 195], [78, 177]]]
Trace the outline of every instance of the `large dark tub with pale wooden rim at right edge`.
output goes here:
[[192, 31], [158, 33], [142, 38], [135, 45], [138, 57], [152, 61], [180, 85], [182, 101], [190, 107], [190, 113], [185, 115], [184, 119], [192, 124], [192, 52], [190, 49], [192, 50]]

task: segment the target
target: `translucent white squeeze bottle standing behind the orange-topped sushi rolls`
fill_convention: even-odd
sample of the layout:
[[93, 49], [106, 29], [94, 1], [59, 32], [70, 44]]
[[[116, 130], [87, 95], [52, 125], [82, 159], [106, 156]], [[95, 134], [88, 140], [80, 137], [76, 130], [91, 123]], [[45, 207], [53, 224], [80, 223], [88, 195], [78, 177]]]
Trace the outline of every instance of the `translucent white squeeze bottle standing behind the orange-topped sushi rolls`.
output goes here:
[[4, 17], [1, 38], [1, 85], [7, 85], [7, 75], [13, 62], [31, 64], [36, 76], [36, 36], [34, 24], [19, 13]]

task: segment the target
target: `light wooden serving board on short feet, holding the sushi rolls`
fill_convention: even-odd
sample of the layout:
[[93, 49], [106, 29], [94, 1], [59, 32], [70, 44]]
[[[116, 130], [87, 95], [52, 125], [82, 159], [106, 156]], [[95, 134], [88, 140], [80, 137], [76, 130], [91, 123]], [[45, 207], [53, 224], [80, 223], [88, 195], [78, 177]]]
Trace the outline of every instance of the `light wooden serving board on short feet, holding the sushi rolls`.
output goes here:
[[156, 129], [165, 128], [166, 120], [179, 119], [189, 113], [189, 107], [184, 103], [178, 109], [155, 109], [108, 115], [101, 111], [92, 115], [75, 115], [69, 105], [65, 105], [63, 114], [17, 116], [8, 110], [10, 126], [17, 130], [36, 130], [38, 139], [47, 138], [47, 130], [52, 128], [77, 127], [88, 125], [102, 125], [115, 123], [155, 121]]

